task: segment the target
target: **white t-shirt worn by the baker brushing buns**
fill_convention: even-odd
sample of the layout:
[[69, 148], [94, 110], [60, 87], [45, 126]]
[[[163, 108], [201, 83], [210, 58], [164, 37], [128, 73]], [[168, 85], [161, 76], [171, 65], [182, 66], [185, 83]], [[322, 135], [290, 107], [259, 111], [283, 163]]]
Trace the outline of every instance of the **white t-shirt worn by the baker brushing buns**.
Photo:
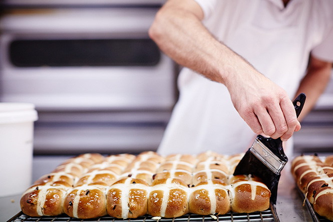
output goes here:
[[[204, 12], [205, 27], [282, 87], [290, 99], [305, 74], [310, 52], [333, 61], [332, 0], [291, 0], [286, 8], [281, 0], [196, 2]], [[184, 68], [178, 87], [180, 97], [160, 154], [207, 150], [233, 154], [250, 147], [256, 135], [233, 107], [223, 84]]]

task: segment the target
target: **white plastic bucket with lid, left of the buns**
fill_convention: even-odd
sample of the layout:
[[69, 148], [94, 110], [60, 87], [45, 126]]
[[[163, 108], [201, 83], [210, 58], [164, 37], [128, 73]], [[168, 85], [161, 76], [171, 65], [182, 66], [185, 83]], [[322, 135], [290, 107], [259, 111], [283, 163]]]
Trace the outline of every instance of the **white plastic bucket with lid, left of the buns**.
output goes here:
[[23, 193], [32, 182], [34, 121], [31, 103], [0, 103], [0, 196]]

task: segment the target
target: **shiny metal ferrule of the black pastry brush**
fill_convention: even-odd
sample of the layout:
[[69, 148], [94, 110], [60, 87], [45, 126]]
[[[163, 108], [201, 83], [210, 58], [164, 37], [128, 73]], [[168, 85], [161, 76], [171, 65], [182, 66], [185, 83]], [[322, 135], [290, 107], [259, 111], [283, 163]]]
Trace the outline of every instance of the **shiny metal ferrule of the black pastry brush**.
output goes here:
[[280, 173], [284, 165], [287, 163], [286, 161], [280, 160], [258, 139], [255, 139], [249, 150], [275, 174]]

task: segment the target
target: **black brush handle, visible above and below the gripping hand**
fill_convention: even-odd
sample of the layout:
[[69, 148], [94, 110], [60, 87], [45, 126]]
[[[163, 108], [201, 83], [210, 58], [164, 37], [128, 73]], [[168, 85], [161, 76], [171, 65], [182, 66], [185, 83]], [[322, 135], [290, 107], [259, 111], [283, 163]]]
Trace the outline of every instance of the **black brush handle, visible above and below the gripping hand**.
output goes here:
[[[303, 109], [304, 103], [305, 103], [306, 96], [304, 93], [299, 94], [292, 104], [294, 105], [296, 116], [298, 117], [300, 112]], [[269, 149], [280, 158], [282, 161], [288, 161], [287, 156], [284, 154], [283, 148], [282, 148], [282, 141], [280, 138], [273, 139], [270, 137], [264, 137], [262, 135], [258, 135], [257, 139], [261, 141], [263, 144], [265, 144], [266, 147], [269, 147]]]

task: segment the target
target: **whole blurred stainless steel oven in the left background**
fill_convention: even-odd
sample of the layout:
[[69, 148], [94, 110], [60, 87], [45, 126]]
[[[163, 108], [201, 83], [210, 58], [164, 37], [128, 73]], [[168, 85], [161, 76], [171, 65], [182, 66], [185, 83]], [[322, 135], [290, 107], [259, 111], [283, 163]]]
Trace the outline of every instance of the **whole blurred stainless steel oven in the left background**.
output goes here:
[[157, 148], [177, 97], [148, 37], [163, 2], [5, 1], [0, 101], [36, 104], [35, 153]]

